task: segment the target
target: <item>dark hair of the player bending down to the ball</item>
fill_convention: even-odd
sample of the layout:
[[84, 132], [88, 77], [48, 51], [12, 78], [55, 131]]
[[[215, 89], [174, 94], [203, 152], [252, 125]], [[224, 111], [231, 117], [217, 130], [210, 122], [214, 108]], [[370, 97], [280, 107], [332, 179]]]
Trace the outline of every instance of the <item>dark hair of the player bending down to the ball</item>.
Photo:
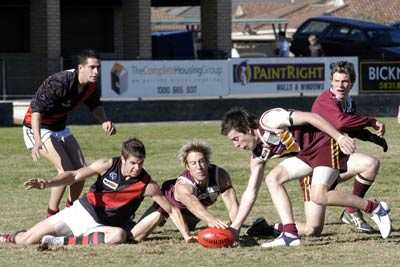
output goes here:
[[257, 129], [257, 117], [242, 107], [231, 108], [225, 113], [221, 123], [221, 134], [228, 135], [231, 130], [246, 133], [250, 129]]

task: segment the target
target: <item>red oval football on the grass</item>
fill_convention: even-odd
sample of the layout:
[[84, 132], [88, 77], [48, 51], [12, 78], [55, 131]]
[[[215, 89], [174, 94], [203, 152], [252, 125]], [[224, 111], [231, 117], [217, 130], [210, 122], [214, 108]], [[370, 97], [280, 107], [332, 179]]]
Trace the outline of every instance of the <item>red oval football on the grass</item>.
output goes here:
[[197, 242], [205, 248], [226, 248], [233, 245], [235, 235], [229, 229], [208, 227], [197, 234]]

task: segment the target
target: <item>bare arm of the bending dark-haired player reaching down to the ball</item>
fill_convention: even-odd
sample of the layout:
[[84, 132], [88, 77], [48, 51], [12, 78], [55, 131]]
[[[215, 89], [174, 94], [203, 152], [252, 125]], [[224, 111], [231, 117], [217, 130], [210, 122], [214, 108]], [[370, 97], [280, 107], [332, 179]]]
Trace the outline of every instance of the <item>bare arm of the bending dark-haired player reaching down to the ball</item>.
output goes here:
[[240, 200], [238, 214], [231, 225], [231, 228], [236, 231], [239, 231], [257, 199], [257, 194], [264, 176], [264, 167], [265, 162], [261, 162], [254, 157], [251, 159], [249, 182]]

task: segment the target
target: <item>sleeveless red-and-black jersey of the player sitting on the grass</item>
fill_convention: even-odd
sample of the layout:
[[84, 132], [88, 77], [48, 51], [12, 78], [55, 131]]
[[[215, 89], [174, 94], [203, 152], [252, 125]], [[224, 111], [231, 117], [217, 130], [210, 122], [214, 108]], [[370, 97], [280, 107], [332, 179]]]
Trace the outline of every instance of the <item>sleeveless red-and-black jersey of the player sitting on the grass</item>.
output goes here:
[[121, 174], [121, 158], [115, 157], [111, 168], [97, 177], [79, 201], [96, 222], [122, 227], [134, 217], [150, 181], [144, 169], [138, 177], [126, 180]]

